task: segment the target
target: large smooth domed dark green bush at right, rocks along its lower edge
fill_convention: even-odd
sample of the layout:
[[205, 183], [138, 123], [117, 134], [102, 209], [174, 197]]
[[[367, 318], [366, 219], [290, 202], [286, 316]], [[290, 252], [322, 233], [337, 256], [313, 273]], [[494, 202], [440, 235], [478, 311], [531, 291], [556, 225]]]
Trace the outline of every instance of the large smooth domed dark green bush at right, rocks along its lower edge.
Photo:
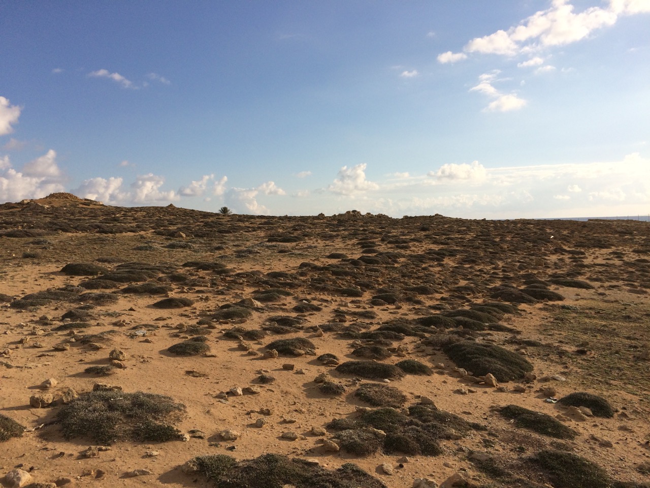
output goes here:
[[478, 344], [463, 340], [446, 344], [443, 351], [456, 366], [465, 368], [474, 376], [492, 373], [499, 381], [523, 378], [532, 371], [532, 364], [517, 353], [492, 344]]

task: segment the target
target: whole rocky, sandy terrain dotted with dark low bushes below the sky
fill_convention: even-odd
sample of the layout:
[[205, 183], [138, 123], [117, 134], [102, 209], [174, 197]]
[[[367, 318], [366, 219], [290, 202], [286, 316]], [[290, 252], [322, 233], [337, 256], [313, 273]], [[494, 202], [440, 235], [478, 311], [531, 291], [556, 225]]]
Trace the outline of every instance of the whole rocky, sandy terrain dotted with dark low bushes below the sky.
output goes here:
[[650, 224], [0, 205], [5, 486], [650, 485]]

